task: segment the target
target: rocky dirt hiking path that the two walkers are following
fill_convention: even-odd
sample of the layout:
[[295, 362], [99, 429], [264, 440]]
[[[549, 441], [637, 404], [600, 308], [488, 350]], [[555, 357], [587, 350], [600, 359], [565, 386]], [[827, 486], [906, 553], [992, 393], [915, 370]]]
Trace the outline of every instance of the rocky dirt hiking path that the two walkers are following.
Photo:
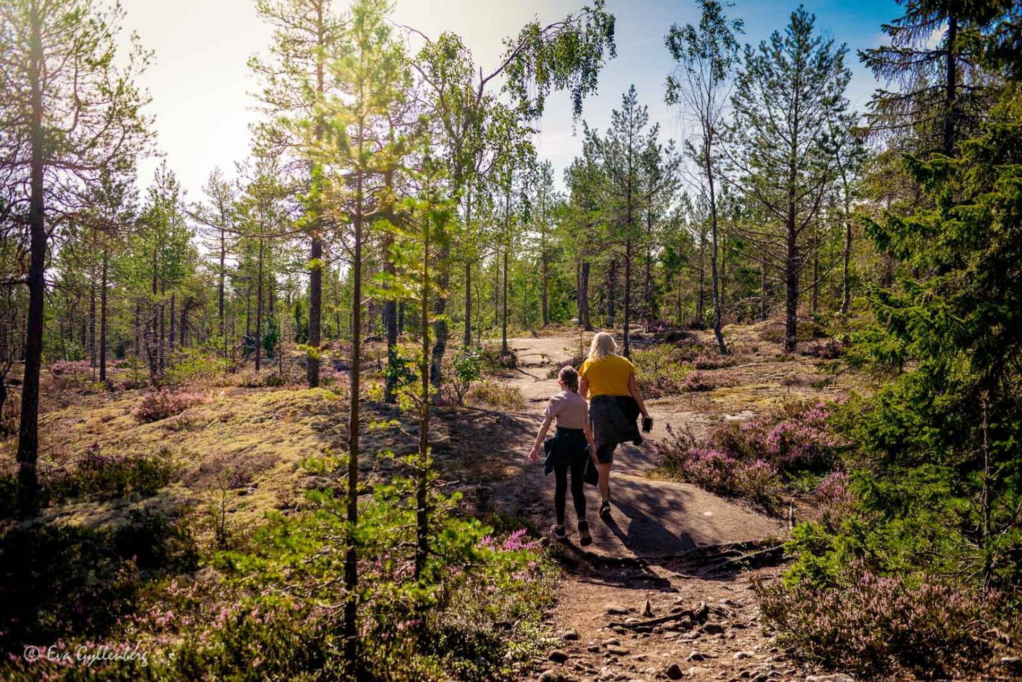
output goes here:
[[[518, 359], [500, 380], [526, 401], [522, 413], [498, 418], [515, 459], [510, 479], [489, 491], [493, 508], [525, 516], [549, 536], [554, 477], [527, 453], [546, 400], [559, 389], [550, 379], [589, 336], [516, 338]], [[664, 427], [704, 432], [726, 419], [748, 418], [707, 410], [701, 400], [648, 400], [654, 429], [642, 446], [620, 446], [611, 474], [612, 519], [596, 514], [599, 495], [587, 485], [594, 543], [577, 545], [570, 494], [568, 541], [552, 543], [565, 567], [558, 607], [550, 625], [557, 642], [547, 659], [533, 661], [521, 679], [540, 680], [810, 680], [848, 682], [843, 675], [815, 675], [786, 660], [759, 625], [750, 590], [757, 577], [777, 575], [774, 549], [787, 524], [707, 493], [695, 486], [650, 478], [657, 461], [653, 443]], [[776, 565], [777, 561], [763, 562]], [[647, 623], [649, 621], [649, 623]]]

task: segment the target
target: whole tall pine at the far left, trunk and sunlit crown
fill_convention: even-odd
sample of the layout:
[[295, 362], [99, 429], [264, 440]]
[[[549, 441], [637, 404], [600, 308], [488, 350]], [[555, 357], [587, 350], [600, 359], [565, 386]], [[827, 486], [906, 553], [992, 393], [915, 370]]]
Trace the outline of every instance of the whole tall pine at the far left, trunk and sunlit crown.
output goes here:
[[134, 84], [148, 54], [133, 39], [127, 59], [115, 59], [122, 16], [120, 7], [103, 11], [93, 0], [0, 4], [0, 120], [5, 121], [0, 168], [27, 181], [29, 204], [29, 309], [17, 446], [18, 499], [26, 514], [34, 510], [38, 492], [48, 243], [85, 186], [130, 162], [148, 140], [148, 121], [140, 112], [147, 99]]

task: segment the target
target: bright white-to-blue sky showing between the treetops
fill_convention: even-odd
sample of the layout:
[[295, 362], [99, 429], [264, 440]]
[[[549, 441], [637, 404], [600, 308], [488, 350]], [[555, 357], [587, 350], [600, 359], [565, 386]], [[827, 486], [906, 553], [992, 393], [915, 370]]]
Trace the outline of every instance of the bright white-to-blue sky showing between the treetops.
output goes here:
[[[563, 18], [586, 0], [398, 0], [393, 19], [430, 37], [443, 31], [462, 36], [476, 62], [492, 70], [503, 51], [501, 39], [517, 34], [536, 16], [543, 22]], [[339, 0], [343, 6], [343, 0]], [[876, 87], [872, 75], [855, 58], [856, 49], [875, 47], [883, 38], [880, 26], [900, 14], [894, 0], [806, 1], [817, 15], [818, 29], [848, 44], [853, 78], [848, 93], [862, 108]], [[217, 165], [233, 175], [234, 161], [248, 154], [248, 126], [254, 79], [246, 61], [265, 54], [270, 30], [256, 14], [252, 0], [122, 0], [125, 28], [135, 31], [143, 46], [155, 52], [155, 63], [142, 78], [155, 115], [157, 145], [168, 166], [181, 179], [190, 200], [201, 198], [201, 186]], [[681, 140], [685, 130], [677, 109], [663, 103], [663, 84], [672, 60], [663, 47], [671, 23], [697, 22], [692, 0], [608, 0], [616, 16], [617, 57], [600, 72], [599, 93], [585, 102], [584, 118], [600, 130], [610, 111], [619, 106], [631, 84], [640, 102], [649, 106], [651, 121], [659, 123], [663, 138]], [[745, 42], [758, 44], [775, 30], [783, 30], [795, 2], [736, 0], [729, 15], [745, 20]], [[548, 101], [542, 133], [536, 143], [541, 158], [561, 172], [582, 151], [574, 135], [568, 98]], [[158, 161], [146, 159], [140, 167], [144, 191]]]

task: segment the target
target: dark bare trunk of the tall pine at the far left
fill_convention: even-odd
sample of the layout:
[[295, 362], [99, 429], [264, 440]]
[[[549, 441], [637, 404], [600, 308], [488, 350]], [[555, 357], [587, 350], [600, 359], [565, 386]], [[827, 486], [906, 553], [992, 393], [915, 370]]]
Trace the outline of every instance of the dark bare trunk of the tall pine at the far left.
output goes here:
[[36, 457], [39, 452], [39, 371], [43, 358], [43, 295], [46, 270], [46, 225], [43, 205], [43, 48], [39, 9], [31, 7], [29, 82], [32, 90], [29, 196], [29, 314], [26, 322], [21, 423], [17, 434], [17, 504], [22, 516], [35, 513], [39, 497]]

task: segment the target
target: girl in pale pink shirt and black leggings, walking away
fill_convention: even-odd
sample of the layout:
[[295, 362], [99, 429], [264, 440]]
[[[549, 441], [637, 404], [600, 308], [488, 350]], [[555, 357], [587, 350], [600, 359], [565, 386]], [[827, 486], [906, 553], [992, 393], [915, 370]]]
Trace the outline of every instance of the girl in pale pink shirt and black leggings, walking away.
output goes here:
[[[528, 458], [536, 461], [540, 458], [540, 450], [544, 448], [550, 453], [547, 461], [553, 465], [557, 479], [557, 486], [554, 489], [554, 513], [557, 516], [557, 523], [551, 527], [550, 532], [558, 540], [567, 537], [567, 532], [564, 530], [564, 505], [567, 497], [568, 472], [571, 472], [571, 498], [578, 519], [578, 541], [583, 545], [589, 545], [592, 544], [593, 537], [586, 522], [583, 475], [586, 471], [586, 461], [591, 458], [591, 453], [596, 452], [593, 432], [589, 425], [589, 406], [586, 404], [586, 399], [578, 395], [578, 373], [574, 368], [563, 368], [557, 380], [561, 392], [552, 396], [547, 403], [547, 409], [543, 412], [543, 426], [536, 436], [536, 443]], [[550, 441], [544, 443], [547, 431], [555, 419], [557, 431]]]

